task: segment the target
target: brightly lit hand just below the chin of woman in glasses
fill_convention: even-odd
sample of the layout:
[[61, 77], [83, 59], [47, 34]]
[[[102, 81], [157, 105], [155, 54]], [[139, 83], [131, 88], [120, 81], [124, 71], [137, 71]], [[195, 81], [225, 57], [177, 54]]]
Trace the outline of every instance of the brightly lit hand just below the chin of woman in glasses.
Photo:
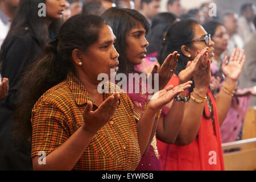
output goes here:
[[187, 82], [188, 80], [190, 80], [191, 77], [193, 76], [193, 73], [196, 70], [200, 70], [201, 65], [205, 64], [205, 63], [203, 63], [203, 62], [205, 62], [204, 55], [205, 55], [205, 53], [207, 53], [208, 49], [209, 49], [208, 47], [205, 47], [201, 51], [197, 51], [198, 54], [197, 54], [196, 58], [193, 61], [188, 61], [187, 68], [183, 69], [179, 73], [180, 83], [184, 83], [184, 82]]

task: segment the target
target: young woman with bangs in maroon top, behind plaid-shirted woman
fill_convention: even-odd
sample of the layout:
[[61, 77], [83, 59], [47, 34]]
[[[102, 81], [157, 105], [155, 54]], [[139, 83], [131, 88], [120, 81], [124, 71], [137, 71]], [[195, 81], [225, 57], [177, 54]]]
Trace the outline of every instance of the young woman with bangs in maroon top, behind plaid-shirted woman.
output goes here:
[[[124, 73], [128, 77], [130, 75], [138, 74], [139, 72], [135, 71], [135, 66], [141, 64], [142, 59], [146, 57], [146, 47], [148, 46], [148, 42], [145, 38], [148, 31], [148, 22], [146, 18], [137, 10], [119, 9], [116, 7], [106, 10], [102, 16], [110, 22], [113, 27], [113, 32], [115, 36], [117, 36], [115, 47], [120, 55], [119, 64], [122, 65], [118, 72]], [[170, 80], [172, 73], [175, 70], [177, 57], [179, 57], [179, 55], [174, 51], [174, 53], [171, 53], [166, 57], [167, 58], [162, 67], [159, 68], [159, 71], [158, 67], [155, 67], [152, 71], [152, 73], [156, 73], [157, 71], [159, 73], [159, 80], [157, 80], [159, 81], [159, 90], [163, 89]], [[174, 89], [182, 88], [185, 90], [191, 83], [191, 81], [184, 82]], [[150, 91], [147, 90], [146, 83], [144, 83], [143, 80], [141, 81], [136, 77], [131, 80], [129, 77], [127, 90], [128, 88], [135, 88], [136, 85], [139, 85], [140, 92], [130, 93], [127, 91], [127, 95], [134, 104], [133, 114], [137, 120], [137, 128], [140, 130], [144, 129], [142, 126], [146, 125], [146, 123], [140, 121], [140, 118], [142, 117], [143, 108], [147, 105], [148, 100], [150, 100]], [[155, 118], [154, 125], [147, 126], [151, 130], [151, 137], [147, 143], [147, 150], [143, 153], [141, 162], [136, 170], [160, 170], [160, 158], [156, 147], [156, 135], [161, 135], [164, 139], [174, 140], [179, 131], [179, 127], [174, 127], [173, 122], [176, 122], [176, 125], [179, 125], [179, 120], [181, 120], [179, 118], [182, 118], [182, 113], [183, 111], [179, 110], [179, 114], [177, 114], [177, 117], [174, 117], [174, 120], [170, 119], [171, 115], [172, 117], [174, 116], [174, 113], [168, 113], [169, 115], [166, 117], [166, 122], [164, 122], [164, 126], [166, 126], [165, 130], [163, 130], [162, 127], [163, 120], [159, 120], [160, 115]], [[160, 127], [158, 127], [158, 122], [160, 122]], [[174, 129], [170, 130], [170, 127]]]

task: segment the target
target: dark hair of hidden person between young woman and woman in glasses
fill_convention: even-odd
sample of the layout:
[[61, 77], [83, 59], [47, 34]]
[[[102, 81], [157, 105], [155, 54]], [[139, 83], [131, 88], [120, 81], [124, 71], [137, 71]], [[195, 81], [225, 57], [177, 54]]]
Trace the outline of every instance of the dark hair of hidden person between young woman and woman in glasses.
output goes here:
[[176, 15], [172, 13], [159, 13], [152, 19], [151, 30], [148, 32], [147, 54], [159, 51], [164, 38], [164, 33], [167, 31], [176, 20]]

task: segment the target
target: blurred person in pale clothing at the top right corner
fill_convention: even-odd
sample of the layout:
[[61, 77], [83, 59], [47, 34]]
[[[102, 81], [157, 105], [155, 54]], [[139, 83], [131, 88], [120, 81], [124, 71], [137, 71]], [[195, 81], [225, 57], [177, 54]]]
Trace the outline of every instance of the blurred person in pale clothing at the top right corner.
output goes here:
[[251, 39], [255, 32], [253, 18], [255, 15], [255, 5], [253, 3], [245, 3], [241, 6], [241, 17], [238, 19], [238, 34], [246, 43]]

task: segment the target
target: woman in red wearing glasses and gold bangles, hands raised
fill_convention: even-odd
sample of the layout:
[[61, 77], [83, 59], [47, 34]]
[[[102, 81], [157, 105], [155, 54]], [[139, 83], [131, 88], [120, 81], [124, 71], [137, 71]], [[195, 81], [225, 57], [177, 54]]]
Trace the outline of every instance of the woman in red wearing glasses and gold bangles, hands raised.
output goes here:
[[[229, 61], [222, 64], [226, 77], [216, 100], [209, 90], [210, 60], [214, 42], [204, 28], [194, 20], [182, 20], [169, 28], [158, 60], [161, 64], [168, 52], [176, 50], [179, 60], [175, 75], [168, 85], [193, 80], [185, 103], [183, 121], [174, 144], [158, 141], [163, 170], [224, 170], [220, 126], [228, 113], [245, 56], [234, 50]], [[207, 50], [204, 55], [199, 50]], [[198, 55], [204, 59], [198, 61]], [[184, 74], [184, 73], [190, 74]], [[182, 75], [187, 75], [186, 77]], [[189, 76], [188, 76], [189, 75]]]

